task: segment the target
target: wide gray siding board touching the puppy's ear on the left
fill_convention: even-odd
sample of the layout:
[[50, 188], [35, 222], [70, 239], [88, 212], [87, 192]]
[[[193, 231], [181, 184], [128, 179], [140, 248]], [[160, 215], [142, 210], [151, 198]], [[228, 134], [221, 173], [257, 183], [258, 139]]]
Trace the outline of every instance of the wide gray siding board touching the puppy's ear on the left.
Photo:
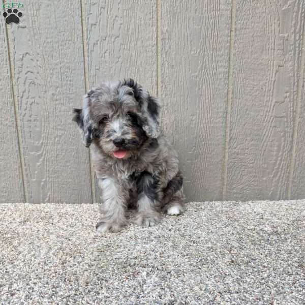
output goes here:
[[72, 107], [85, 92], [80, 2], [25, 5], [9, 26], [28, 201], [92, 202]]

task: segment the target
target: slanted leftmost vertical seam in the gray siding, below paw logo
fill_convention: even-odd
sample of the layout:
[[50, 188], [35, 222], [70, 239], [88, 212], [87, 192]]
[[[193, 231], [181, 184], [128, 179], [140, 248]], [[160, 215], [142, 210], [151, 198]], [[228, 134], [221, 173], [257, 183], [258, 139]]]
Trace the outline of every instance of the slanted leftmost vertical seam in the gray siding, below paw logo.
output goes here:
[[20, 124], [18, 120], [18, 106], [17, 106], [17, 96], [16, 96], [16, 84], [15, 84], [15, 73], [13, 69], [13, 63], [11, 58], [11, 46], [9, 42], [9, 32], [8, 32], [8, 26], [5, 25], [5, 33], [6, 33], [6, 39], [7, 39], [7, 48], [8, 48], [8, 60], [9, 60], [9, 69], [10, 69], [10, 79], [11, 79], [11, 85], [12, 85], [12, 95], [13, 95], [13, 104], [14, 104], [14, 116], [15, 116], [15, 126], [17, 131], [17, 142], [18, 142], [18, 152], [19, 152], [19, 160], [20, 160], [20, 166], [21, 166], [21, 179], [22, 179], [22, 187], [23, 187], [23, 202], [27, 202], [28, 196], [27, 196], [27, 190], [25, 187], [25, 165], [23, 160], [23, 149], [21, 144], [21, 129]]

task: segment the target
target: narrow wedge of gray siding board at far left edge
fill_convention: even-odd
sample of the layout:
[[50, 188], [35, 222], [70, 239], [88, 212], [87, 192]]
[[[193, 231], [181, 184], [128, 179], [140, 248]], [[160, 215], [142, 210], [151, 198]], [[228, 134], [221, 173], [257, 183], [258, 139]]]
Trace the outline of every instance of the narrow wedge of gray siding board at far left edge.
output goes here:
[[4, 23], [0, 26], [0, 203], [23, 202], [24, 192]]

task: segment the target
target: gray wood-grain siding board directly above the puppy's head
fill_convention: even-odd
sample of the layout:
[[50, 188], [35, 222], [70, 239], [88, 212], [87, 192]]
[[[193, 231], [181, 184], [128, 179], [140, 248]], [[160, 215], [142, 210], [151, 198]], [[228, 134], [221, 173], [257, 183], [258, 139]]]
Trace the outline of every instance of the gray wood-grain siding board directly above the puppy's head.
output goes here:
[[[90, 0], [85, 14], [89, 87], [132, 77], [156, 94], [156, 2]], [[95, 189], [100, 202], [97, 183]]]

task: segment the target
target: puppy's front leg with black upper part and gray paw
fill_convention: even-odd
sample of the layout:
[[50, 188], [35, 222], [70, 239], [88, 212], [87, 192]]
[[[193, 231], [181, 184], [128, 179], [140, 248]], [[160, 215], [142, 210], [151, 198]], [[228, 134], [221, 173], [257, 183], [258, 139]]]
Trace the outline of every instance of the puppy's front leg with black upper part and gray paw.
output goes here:
[[160, 220], [157, 181], [148, 172], [143, 172], [137, 181], [138, 214], [135, 223], [142, 227], [153, 227]]

